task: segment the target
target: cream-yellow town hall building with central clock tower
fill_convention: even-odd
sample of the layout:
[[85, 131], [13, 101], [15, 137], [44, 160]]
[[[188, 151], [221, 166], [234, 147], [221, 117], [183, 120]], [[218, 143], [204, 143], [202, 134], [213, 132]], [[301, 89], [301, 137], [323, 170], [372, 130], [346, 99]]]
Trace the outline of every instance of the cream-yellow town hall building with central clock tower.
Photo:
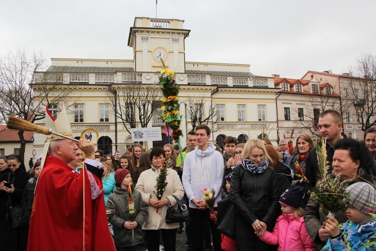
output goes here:
[[[275, 141], [275, 96], [278, 89], [274, 87], [274, 78], [255, 76], [250, 72], [250, 65], [246, 64], [186, 62], [185, 53], [189, 52], [185, 52], [184, 44], [190, 30], [183, 29], [183, 22], [177, 19], [135, 18], [129, 31], [128, 46], [133, 49], [133, 58], [129, 60], [52, 58], [49, 69], [37, 74], [34, 85], [36, 96], [44, 91], [46, 85], [68, 91], [69, 95], [62, 100], [71, 111], [70, 122], [75, 136], [79, 136], [85, 128], [94, 128], [100, 137], [98, 149], [106, 153], [118, 149], [124, 153], [125, 148], [133, 144], [126, 130], [129, 125], [122, 122], [127, 120], [128, 112], [134, 110], [137, 114], [141, 109], [157, 107], [147, 127], [160, 127], [163, 132], [158, 108], [161, 106], [161, 94], [145, 107], [129, 105], [128, 99], [125, 99], [129, 96], [127, 88], [132, 84], [140, 87], [137, 92], [139, 97], [153, 90], [162, 69], [162, 59], [167, 68], [176, 72], [184, 135], [195, 126], [193, 120], [203, 121], [209, 116], [205, 123], [213, 128], [212, 141], [221, 143], [225, 136], [245, 141], [262, 132]], [[49, 95], [54, 93], [57, 92]], [[117, 109], [121, 106], [126, 108], [120, 116], [114, 115], [114, 97], [117, 97]], [[58, 110], [61, 104], [61, 100], [51, 103], [51, 108]], [[194, 116], [190, 115], [193, 111]], [[135, 127], [141, 127], [140, 120], [136, 115]], [[35, 135], [38, 154], [44, 141], [45, 136]], [[162, 134], [162, 142], [148, 142], [147, 147], [165, 143], [167, 139]], [[182, 147], [185, 146], [185, 136], [181, 143]]]

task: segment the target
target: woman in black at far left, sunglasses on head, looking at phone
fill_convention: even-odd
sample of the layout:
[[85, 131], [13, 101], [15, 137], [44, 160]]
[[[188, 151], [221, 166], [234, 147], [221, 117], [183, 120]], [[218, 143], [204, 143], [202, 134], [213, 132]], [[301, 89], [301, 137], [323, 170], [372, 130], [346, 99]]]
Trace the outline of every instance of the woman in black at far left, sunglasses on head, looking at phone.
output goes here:
[[[22, 195], [31, 175], [26, 172], [20, 155], [11, 154], [7, 159], [9, 173], [2, 175], [0, 183], [0, 196], [8, 198], [6, 216], [1, 215], [1, 217], [6, 217], [7, 222], [5, 228], [0, 229], [0, 235], [4, 236], [4, 243], [3, 246], [0, 246], [0, 250], [26, 250], [29, 226], [13, 227], [9, 199], [11, 199], [12, 206], [21, 205]], [[6, 182], [9, 182], [10, 185], [6, 185]]]

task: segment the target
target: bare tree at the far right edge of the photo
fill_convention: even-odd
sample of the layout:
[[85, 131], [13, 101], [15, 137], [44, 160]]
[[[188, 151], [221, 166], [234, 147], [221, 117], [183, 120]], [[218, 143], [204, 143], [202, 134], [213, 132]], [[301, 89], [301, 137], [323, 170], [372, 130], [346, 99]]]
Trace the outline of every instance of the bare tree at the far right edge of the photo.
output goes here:
[[346, 79], [349, 82], [356, 120], [361, 130], [376, 125], [376, 56], [367, 53], [356, 59]]

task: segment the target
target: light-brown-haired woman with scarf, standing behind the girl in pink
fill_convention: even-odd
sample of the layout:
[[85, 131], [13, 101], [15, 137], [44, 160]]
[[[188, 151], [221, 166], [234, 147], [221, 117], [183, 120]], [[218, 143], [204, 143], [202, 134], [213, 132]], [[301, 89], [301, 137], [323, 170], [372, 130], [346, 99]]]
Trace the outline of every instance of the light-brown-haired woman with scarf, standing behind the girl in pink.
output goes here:
[[[294, 180], [291, 183], [292, 186], [303, 184], [304, 180], [302, 176], [304, 176], [305, 173], [305, 164], [307, 162], [307, 157], [309, 151], [311, 151], [314, 147], [315, 144], [309, 134], [301, 134], [296, 139], [294, 149], [295, 155], [288, 162], [289, 168], [291, 168], [294, 172]], [[296, 163], [301, 167], [303, 174], [296, 169]]]

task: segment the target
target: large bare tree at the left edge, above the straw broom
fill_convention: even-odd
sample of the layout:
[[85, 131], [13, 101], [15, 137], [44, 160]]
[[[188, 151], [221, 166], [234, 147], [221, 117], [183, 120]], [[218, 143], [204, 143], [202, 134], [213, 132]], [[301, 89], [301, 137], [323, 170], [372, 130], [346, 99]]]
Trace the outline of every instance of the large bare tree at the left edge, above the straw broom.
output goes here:
[[[36, 79], [38, 71], [46, 68], [46, 58], [42, 52], [34, 52], [29, 57], [25, 50], [18, 49], [0, 58], [0, 116], [7, 122], [9, 115], [34, 122], [45, 117], [43, 104], [58, 103], [69, 95], [69, 88], [56, 88], [63, 85], [57, 81], [56, 74], [42, 74]], [[38, 82], [38, 83], [37, 83]], [[34, 91], [33, 88], [37, 90]], [[26, 141], [23, 131], [18, 132], [21, 146], [20, 155], [24, 159]]]

